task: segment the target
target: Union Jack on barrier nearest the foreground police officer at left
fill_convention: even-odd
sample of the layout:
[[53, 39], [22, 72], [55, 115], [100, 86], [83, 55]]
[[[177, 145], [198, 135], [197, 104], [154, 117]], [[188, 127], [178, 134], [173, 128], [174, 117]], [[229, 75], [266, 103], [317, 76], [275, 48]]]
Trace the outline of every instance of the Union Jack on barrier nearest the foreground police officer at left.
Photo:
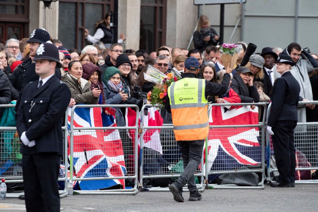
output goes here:
[[[68, 127], [71, 111], [68, 109]], [[76, 108], [74, 127], [116, 127], [113, 116], [107, 116], [101, 108]], [[124, 176], [126, 167], [121, 138], [116, 130], [74, 130], [73, 132], [74, 177]], [[68, 136], [70, 146], [70, 137]], [[68, 156], [70, 151], [68, 149]], [[81, 190], [107, 189], [116, 185], [125, 188], [124, 179], [79, 181]], [[76, 189], [74, 182], [74, 189]]]

